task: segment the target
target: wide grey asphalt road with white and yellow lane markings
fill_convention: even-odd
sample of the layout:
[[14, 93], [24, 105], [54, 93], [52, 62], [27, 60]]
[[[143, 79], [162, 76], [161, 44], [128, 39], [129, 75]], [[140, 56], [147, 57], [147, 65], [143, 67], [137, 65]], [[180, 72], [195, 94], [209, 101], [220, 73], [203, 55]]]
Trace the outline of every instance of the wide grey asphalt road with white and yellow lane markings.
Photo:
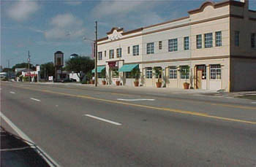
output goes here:
[[1, 112], [60, 166], [256, 166], [246, 99], [1, 82]]

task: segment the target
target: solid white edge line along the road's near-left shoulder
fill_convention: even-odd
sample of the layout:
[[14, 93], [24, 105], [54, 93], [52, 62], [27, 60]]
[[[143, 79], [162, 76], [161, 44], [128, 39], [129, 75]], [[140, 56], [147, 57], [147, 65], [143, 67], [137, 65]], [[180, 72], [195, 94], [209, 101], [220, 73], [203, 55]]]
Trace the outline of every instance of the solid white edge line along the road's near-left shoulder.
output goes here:
[[[31, 143], [34, 143], [34, 141], [32, 141], [31, 139], [29, 139], [29, 136], [26, 136], [26, 134], [23, 133], [23, 131], [21, 131], [14, 123], [12, 123], [11, 120], [9, 120], [7, 117], [5, 117], [5, 115], [4, 115], [3, 113], [0, 112], [0, 115], [1, 115], [1, 118], [3, 118], [4, 121], [5, 121], [6, 123], [8, 123], [8, 125], [10, 125], [10, 127], [11, 127], [16, 133], [18, 133], [18, 135], [19, 135], [21, 138], [25, 139], [26, 141], [29, 141], [29, 142], [26, 142], [26, 143], [29, 144], [30, 147], [35, 148], [35, 146], [34, 146], [35, 144], [31, 144]], [[38, 150], [38, 149], [39, 149], [39, 150]], [[58, 163], [56, 163], [55, 160], [53, 160], [53, 158], [50, 158], [50, 156], [49, 156], [45, 151], [43, 151], [39, 146], [37, 146], [37, 149], [35, 149], [35, 150], [37, 151], [37, 153], [38, 153], [39, 155], [42, 156], [42, 158], [44, 158], [44, 159], [47, 161], [47, 163], [48, 163], [50, 166], [57, 166], [57, 167], [60, 166]]]

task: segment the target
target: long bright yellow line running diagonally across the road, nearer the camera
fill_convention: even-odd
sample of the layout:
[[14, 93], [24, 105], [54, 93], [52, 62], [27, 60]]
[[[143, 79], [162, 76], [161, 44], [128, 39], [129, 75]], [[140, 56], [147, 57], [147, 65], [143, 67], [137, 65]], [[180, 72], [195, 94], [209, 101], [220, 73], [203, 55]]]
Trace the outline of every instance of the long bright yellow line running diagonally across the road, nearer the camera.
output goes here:
[[138, 107], [147, 108], [147, 109], [157, 109], [157, 110], [168, 111], [168, 112], [176, 112], [176, 113], [180, 113], [180, 114], [190, 114], [190, 115], [195, 115], [195, 116], [200, 116], [200, 117], [209, 117], [209, 118], [215, 118], [217, 120], [227, 120], [227, 121], [233, 121], [233, 122], [238, 122], [238, 123], [256, 124], [256, 122], [252, 122], [252, 121], [238, 120], [238, 119], [233, 119], [233, 118], [228, 118], [228, 117], [217, 117], [214, 115], [208, 115], [208, 114], [204, 114], [204, 113], [200, 113], [200, 112], [189, 112], [189, 111], [180, 110], [180, 109], [169, 109], [169, 108], [162, 108], [162, 107], [157, 107], [157, 106], [145, 106], [145, 105], [141, 105], [141, 104], [130, 104], [127, 102], [113, 101], [113, 100], [108, 100], [108, 99], [103, 99], [103, 98], [94, 98], [91, 96], [73, 95], [73, 94], [69, 94], [69, 93], [59, 93], [59, 92], [50, 91], [50, 90], [39, 90], [39, 89], [34, 89], [34, 88], [24, 88], [24, 89], [36, 90], [36, 91], [45, 92], [45, 93], [59, 94], [59, 95], [63, 95], [63, 96], [71, 96], [71, 97], [76, 97], [76, 98], [87, 98], [87, 99], [96, 100], [96, 101], [105, 101], [105, 102], [113, 103], [113, 104], [124, 104], [127, 106], [138, 106]]

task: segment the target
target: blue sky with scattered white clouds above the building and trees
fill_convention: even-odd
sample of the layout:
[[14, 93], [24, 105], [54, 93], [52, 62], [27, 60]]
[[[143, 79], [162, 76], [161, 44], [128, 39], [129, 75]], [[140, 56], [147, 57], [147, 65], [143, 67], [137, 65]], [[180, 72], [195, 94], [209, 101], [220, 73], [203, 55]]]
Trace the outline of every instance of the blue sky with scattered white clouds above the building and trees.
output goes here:
[[[98, 36], [105, 37], [113, 27], [129, 31], [187, 16], [203, 0], [1, 0], [1, 66], [10, 67], [27, 62], [53, 61], [53, 54], [61, 50], [69, 55], [91, 55], [95, 21]], [[256, 9], [256, 0], [249, 1]]]

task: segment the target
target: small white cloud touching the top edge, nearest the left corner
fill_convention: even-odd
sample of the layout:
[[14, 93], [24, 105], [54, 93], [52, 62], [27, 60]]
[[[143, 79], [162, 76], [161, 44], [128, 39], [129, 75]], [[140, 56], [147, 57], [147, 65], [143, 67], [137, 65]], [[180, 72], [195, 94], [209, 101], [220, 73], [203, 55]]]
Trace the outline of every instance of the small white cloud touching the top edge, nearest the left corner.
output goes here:
[[37, 1], [16, 1], [8, 10], [7, 15], [17, 21], [28, 19], [34, 12], [37, 12], [39, 5]]

